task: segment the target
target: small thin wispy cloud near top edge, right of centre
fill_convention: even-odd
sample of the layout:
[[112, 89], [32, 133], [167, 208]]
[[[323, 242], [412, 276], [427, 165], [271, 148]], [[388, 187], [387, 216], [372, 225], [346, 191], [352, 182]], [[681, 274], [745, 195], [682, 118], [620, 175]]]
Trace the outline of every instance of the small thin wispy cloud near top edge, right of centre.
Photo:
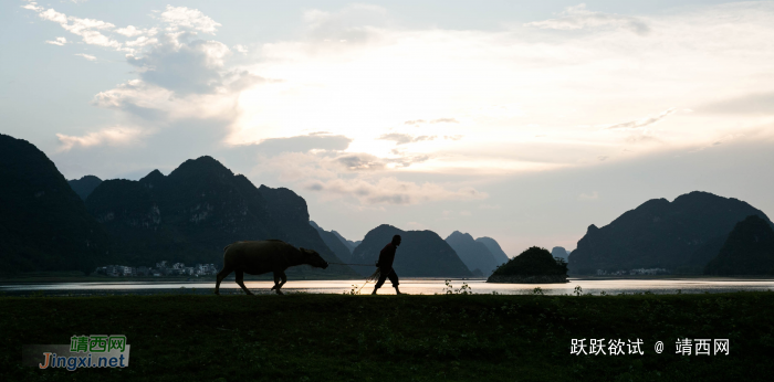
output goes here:
[[579, 30], [587, 28], [613, 26], [629, 30], [639, 35], [650, 32], [648, 24], [632, 17], [618, 15], [611, 13], [593, 12], [586, 9], [586, 4], [567, 7], [558, 19], [535, 21], [524, 24], [540, 29], [555, 29], [563, 31]]

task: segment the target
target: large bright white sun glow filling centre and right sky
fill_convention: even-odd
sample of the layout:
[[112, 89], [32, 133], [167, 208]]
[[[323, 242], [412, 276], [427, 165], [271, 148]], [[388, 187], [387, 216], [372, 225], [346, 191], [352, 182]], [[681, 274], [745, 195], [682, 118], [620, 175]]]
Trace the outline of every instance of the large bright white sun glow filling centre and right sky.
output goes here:
[[[431, 171], [562, 166], [548, 156], [520, 160], [517, 151], [481, 158], [491, 145], [508, 142], [542, 140], [576, 152], [564, 166], [695, 146], [766, 123], [708, 120], [684, 108], [759, 88], [752, 78], [772, 74], [774, 53], [760, 50], [774, 38], [772, 12], [771, 4], [743, 3], [653, 19], [576, 7], [564, 19], [501, 32], [355, 24], [332, 39], [266, 44], [264, 60], [249, 71], [282, 83], [241, 94], [243, 114], [229, 141], [325, 130], [353, 138], [351, 151], [389, 157], [394, 146], [376, 141], [385, 134], [463, 137], [409, 145], [436, 153], [410, 168]], [[745, 22], [719, 25], [719, 18]], [[359, 40], [339, 39], [348, 33]], [[442, 117], [459, 123], [405, 124]], [[442, 153], [454, 149], [469, 155]]]

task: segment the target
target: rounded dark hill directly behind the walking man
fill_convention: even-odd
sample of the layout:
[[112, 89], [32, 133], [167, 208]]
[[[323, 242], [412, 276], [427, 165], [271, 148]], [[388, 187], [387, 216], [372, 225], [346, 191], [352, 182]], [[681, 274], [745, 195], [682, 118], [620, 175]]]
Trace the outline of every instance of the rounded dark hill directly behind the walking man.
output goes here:
[[[402, 231], [388, 224], [372, 230], [363, 243], [352, 254], [353, 262], [375, 264], [379, 252], [394, 235], [400, 235], [402, 243], [395, 256], [395, 270], [405, 277], [471, 277], [471, 272], [462, 263], [454, 250], [432, 231]], [[374, 268], [359, 269], [370, 275]]]

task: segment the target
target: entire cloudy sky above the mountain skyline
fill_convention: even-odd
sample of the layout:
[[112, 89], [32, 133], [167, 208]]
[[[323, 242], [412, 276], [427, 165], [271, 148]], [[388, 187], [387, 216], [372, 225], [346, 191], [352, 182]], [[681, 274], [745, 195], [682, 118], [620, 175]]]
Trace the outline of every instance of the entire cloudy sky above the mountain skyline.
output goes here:
[[349, 240], [574, 250], [650, 199], [774, 215], [773, 1], [0, 3], [0, 132], [67, 179], [211, 156]]

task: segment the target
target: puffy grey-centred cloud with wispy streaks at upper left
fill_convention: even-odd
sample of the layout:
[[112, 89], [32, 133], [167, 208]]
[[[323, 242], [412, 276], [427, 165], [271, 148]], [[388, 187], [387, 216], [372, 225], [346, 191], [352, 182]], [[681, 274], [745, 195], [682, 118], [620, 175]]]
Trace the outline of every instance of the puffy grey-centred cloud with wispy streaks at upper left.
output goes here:
[[[163, 26], [142, 29], [116, 28], [101, 20], [67, 17], [54, 9], [44, 10], [34, 2], [28, 6], [40, 18], [60, 23], [82, 36], [86, 44], [128, 52], [127, 63], [136, 67], [139, 78], [98, 93], [93, 104], [118, 110], [135, 123], [142, 120], [154, 131], [186, 118], [220, 119], [222, 126], [229, 128], [239, 113], [236, 104], [240, 92], [266, 82], [245, 70], [227, 68], [226, 61], [231, 55], [228, 46], [197, 38], [197, 33], [212, 34], [220, 26], [197, 9], [168, 6], [157, 17]], [[126, 41], [102, 34], [106, 31]], [[64, 38], [54, 42], [63, 41]], [[77, 55], [96, 60], [92, 54]]]

